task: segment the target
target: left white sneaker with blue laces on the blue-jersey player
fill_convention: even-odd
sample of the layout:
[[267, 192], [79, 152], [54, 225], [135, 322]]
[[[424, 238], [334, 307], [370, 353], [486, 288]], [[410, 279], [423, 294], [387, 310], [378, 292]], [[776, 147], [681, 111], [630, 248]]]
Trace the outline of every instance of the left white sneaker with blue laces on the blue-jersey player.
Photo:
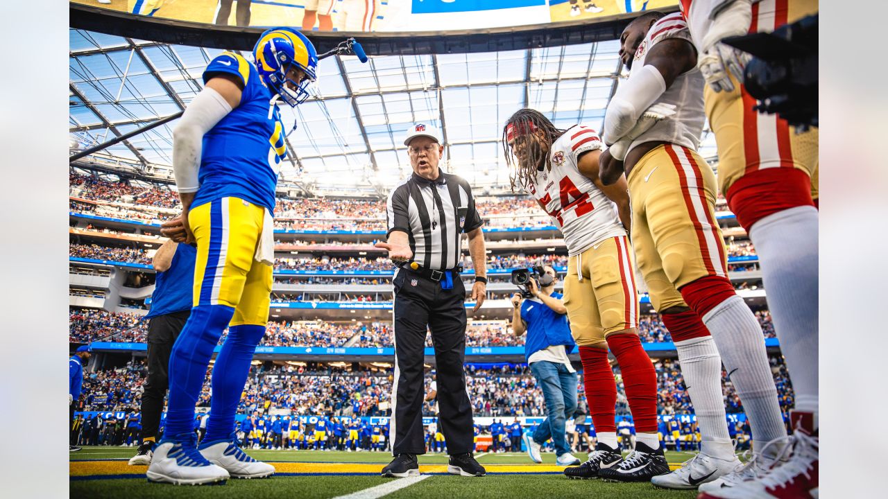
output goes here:
[[148, 481], [175, 485], [202, 485], [224, 482], [228, 471], [210, 463], [197, 451], [194, 433], [177, 435], [174, 440], [162, 440], [155, 448], [148, 466]]

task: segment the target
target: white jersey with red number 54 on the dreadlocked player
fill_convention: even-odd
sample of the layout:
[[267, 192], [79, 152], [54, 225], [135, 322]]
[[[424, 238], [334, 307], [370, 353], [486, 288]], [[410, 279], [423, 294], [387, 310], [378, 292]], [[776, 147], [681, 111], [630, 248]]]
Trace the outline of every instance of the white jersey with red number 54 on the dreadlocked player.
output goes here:
[[552, 144], [549, 168], [537, 171], [527, 186], [561, 229], [571, 257], [608, 237], [626, 235], [614, 202], [577, 168], [580, 154], [603, 148], [595, 130], [576, 125]]

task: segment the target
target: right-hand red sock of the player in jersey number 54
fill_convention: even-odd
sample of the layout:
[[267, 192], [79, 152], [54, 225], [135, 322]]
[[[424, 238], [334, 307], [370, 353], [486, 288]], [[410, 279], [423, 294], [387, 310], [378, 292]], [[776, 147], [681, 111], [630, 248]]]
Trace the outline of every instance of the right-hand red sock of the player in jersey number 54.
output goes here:
[[[622, 384], [632, 411], [636, 432], [657, 431], [657, 375], [638, 335], [614, 334], [607, 346], [620, 364]], [[598, 426], [596, 426], [596, 429]]]

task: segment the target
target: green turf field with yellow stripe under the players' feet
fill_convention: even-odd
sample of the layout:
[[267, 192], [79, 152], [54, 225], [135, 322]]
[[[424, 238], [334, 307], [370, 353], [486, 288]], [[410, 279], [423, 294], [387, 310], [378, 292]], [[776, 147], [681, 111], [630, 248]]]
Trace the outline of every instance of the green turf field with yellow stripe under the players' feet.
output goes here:
[[[391, 456], [384, 452], [341, 452], [306, 450], [252, 450], [257, 459], [274, 463], [277, 472], [271, 479], [230, 479], [224, 486], [176, 487], [149, 484], [144, 466], [129, 466], [127, 460], [135, 448], [92, 447], [70, 455], [71, 497], [126, 497], [131, 499], [166, 499], [178, 497], [231, 497], [253, 499], [266, 497], [306, 497], [331, 499], [392, 483], [379, 471]], [[585, 459], [581, 453], [575, 454]], [[657, 497], [691, 498], [696, 491], [670, 491], [649, 483], [621, 484], [600, 480], [571, 480], [555, 465], [555, 455], [543, 454], [543, 464], [530, 463], [524, 453], [479, 454], [479, 463], [488, 470], [483, 478], [464, 478], [447, 474], [447, 455], [419, 456], [420, 471], [428, 478], [385, 495], [399, 499], [494, 498], [505, 494], [515, 497]], [[691, 454], [667, 452], [670, 465], [676, 467]], [[371, 493], [373, 491], [370, 491]], [[362, 495], [368, 499], [379, 495]]]

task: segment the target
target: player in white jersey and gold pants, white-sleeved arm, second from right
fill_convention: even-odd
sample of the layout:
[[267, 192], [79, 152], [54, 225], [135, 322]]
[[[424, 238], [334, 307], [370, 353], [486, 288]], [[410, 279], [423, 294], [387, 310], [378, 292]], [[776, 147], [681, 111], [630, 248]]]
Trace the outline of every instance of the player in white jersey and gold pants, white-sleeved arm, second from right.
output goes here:
[[680, 13], [639, 16], [622, 32], [620, 56], [630, 76], [607, 106], [607, 144], [621, 142], [649, 107], [676, 110], [635, 136], [624, 162], [602, 153], [600, 174], [606, 184], [623, 172], [627, 177], [638, 266], [675, 341], [702, 433], [699, 455], [651, 481], [696, 488], [739, 464], [725, 425], [721, 361], [749, 417], [755, 448], [785, 438], [786, 428], [761, 326], [727, 276], [715, 221], [716, 178], [696, 152], [704, 82], [686, 22]]

